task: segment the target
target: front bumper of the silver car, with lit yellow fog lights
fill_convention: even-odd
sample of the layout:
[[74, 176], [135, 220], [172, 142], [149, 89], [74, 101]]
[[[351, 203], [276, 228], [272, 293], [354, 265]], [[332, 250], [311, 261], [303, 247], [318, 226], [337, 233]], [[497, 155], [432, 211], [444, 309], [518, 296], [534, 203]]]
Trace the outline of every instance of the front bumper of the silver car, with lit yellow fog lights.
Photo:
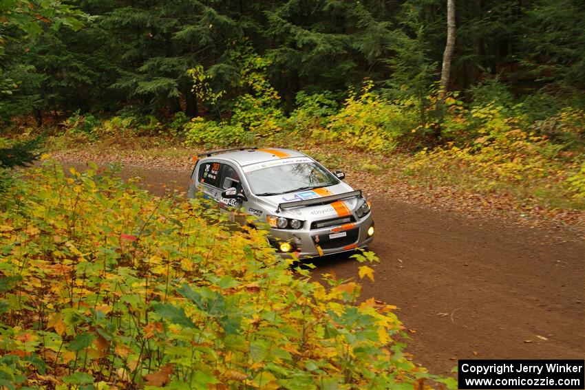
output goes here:
[[[310, 226], [310, 223], [306, 225]], [[310, 229], [308, 226], [300, 230], [271, 228], [269, 241], [278, 251], [279, 243], [291, 243], [293, 248], [290, 252], [279, 251], [279, 254], [286, 256], [294, 252], [302, 259], [363, 248], [374, 240], [374, 235], [368, 235], [368, 229], [374, 226], [372, 213], [351, 224], [318, 229]]]

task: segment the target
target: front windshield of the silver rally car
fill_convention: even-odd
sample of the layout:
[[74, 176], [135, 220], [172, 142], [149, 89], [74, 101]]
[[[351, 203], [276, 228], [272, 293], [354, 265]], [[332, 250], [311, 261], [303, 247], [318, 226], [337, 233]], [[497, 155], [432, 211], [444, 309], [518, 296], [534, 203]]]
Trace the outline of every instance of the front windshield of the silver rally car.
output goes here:
[[246, 178], [252, 192], [259, 196], [292, 193], [339, 183], [336, 177], [315, 162], [270, 166], [248, 172]]

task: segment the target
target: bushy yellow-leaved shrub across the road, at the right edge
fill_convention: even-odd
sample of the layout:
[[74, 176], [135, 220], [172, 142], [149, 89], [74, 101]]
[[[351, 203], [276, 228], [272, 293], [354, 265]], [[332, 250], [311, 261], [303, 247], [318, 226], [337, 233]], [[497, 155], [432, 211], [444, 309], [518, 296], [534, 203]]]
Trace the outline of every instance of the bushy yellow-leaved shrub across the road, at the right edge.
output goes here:
[[[467, 142], [425, 148], [408, 164], [409, 171], [442, 182], [455, 181], [474, 191], [513, 191], [522, 202], [539, 199], [549, 207], [585, 206], [581, 198], [573, 197], [581, 191], [581, 174], [567, 180], [574, 163], [564, 157], [564, 144], [529, 131], [524, 118], [510, 117], [506, 109], [494, 104], [471, 109], [463, 122], [469, 128]], [[572, 197], [575, 201], [570, 200]]]

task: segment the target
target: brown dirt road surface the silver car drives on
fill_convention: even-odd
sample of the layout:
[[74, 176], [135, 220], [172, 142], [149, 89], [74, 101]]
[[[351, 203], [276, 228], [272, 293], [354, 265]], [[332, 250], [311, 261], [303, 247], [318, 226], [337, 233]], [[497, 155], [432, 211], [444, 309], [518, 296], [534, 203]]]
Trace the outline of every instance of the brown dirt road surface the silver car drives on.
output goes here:
[[[122, 171], [125, 178], [141, 176], [156, 195], [184, 191], [190, 174], [161, 167]], [[363, 280], [362, 298], [398, 307], [416, 362], [443, 374], [460, 358], [584, 358], [583, 237], [382, 197], [372, 209], [371, 249], [380, 263], [376, 281]], [[346, 254], [315, 264], [317, 274], [359, 279], [359, 264]]]

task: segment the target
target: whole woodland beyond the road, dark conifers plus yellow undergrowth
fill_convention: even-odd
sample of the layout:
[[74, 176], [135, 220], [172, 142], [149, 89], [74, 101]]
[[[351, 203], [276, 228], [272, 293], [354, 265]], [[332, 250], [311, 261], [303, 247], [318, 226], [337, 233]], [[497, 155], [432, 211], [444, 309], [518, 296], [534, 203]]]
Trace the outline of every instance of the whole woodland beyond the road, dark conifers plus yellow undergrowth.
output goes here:
[[39, 132], [61, 148], [116, 135], [203, 149], [318, 140], [407, 156], [398, 169], [425, 180], [462, 170], [522, 205], [583, 208], [578, 1], [457, 3], [445, 85], [445, 1], [0, 7], [7, 145]]

